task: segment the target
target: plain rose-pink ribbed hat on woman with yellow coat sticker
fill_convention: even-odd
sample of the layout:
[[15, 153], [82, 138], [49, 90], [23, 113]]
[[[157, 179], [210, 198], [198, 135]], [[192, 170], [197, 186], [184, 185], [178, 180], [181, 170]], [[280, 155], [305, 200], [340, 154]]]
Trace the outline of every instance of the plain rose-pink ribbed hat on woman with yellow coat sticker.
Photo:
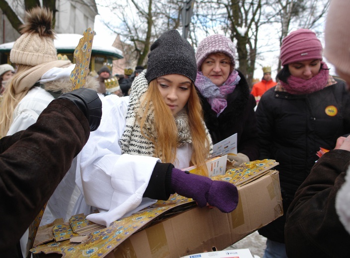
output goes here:
[[322, 60], [322, 44], [313, 31], [298, 29], [282, 40], [280, 60], [283, 66], [311, 59]]

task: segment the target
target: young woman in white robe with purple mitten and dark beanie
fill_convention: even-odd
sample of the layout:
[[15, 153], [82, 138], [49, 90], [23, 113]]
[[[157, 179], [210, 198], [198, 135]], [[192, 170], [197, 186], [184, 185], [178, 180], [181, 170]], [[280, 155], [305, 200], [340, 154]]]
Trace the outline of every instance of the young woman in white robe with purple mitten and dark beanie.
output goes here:
[[[101, 125], [78, 155], [76, 171], [84, 201], [99, 210], [89, 220], [109, 226], [175, 192], [201, 207], [235, 209], [238, 192], [232, 184], [180, 170], [191, 165], [206, 170], [210, 157], [196, 73], [192, 46], [171, 30], [151, 46], [147, 70], [135, 78], [130, 98], [102, 99]], [[91, 213], [84, 201], [76, 213]]]

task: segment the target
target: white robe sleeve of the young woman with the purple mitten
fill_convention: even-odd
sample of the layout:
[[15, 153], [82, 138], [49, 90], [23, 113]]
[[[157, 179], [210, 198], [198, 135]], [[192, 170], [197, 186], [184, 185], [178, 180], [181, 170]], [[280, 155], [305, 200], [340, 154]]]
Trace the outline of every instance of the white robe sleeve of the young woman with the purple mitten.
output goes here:
[[[110, 95], [102, 99], [100, 127], [91, 132], [79, 154], [76, 184], [86, 204], [100, 213], [87, 216], [109, 226], [113, 221], [155, 202], [143, 198], [156, 162], [154, 157], [123, 154], [119, 139], [124, 132], [129, 98]], [[142, 205], [140, 206], [142, 201]]]

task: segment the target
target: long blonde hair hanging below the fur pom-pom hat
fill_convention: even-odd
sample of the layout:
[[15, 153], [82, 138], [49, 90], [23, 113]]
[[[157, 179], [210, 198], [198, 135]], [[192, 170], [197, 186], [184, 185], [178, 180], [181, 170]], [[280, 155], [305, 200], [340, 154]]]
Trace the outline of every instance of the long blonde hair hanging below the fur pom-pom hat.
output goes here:
[[0, 105], [0, 136], [6, 136], [7, 131], [12, 123], [13, 111], [21, 99], [16, 94], [16, 86], [14, 81], [19, 77], [22, 72], [29, 70], [33, 66], [18, 65], [16, 73], [12, 76], [11, 80], [7, 83], [7, 86], [2, 94], [2, 101]]

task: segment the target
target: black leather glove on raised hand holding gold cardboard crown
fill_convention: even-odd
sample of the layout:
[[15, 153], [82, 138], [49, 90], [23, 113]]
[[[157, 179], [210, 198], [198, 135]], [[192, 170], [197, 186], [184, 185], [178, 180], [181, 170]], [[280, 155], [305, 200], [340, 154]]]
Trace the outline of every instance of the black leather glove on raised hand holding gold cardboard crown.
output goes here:
[[99, 127], [102, 117], [102, 102], [95, 90], [80, 88], [64, 93], [57, 99], [67, 99], [73, 102], [87, 118], [90, 131]]

